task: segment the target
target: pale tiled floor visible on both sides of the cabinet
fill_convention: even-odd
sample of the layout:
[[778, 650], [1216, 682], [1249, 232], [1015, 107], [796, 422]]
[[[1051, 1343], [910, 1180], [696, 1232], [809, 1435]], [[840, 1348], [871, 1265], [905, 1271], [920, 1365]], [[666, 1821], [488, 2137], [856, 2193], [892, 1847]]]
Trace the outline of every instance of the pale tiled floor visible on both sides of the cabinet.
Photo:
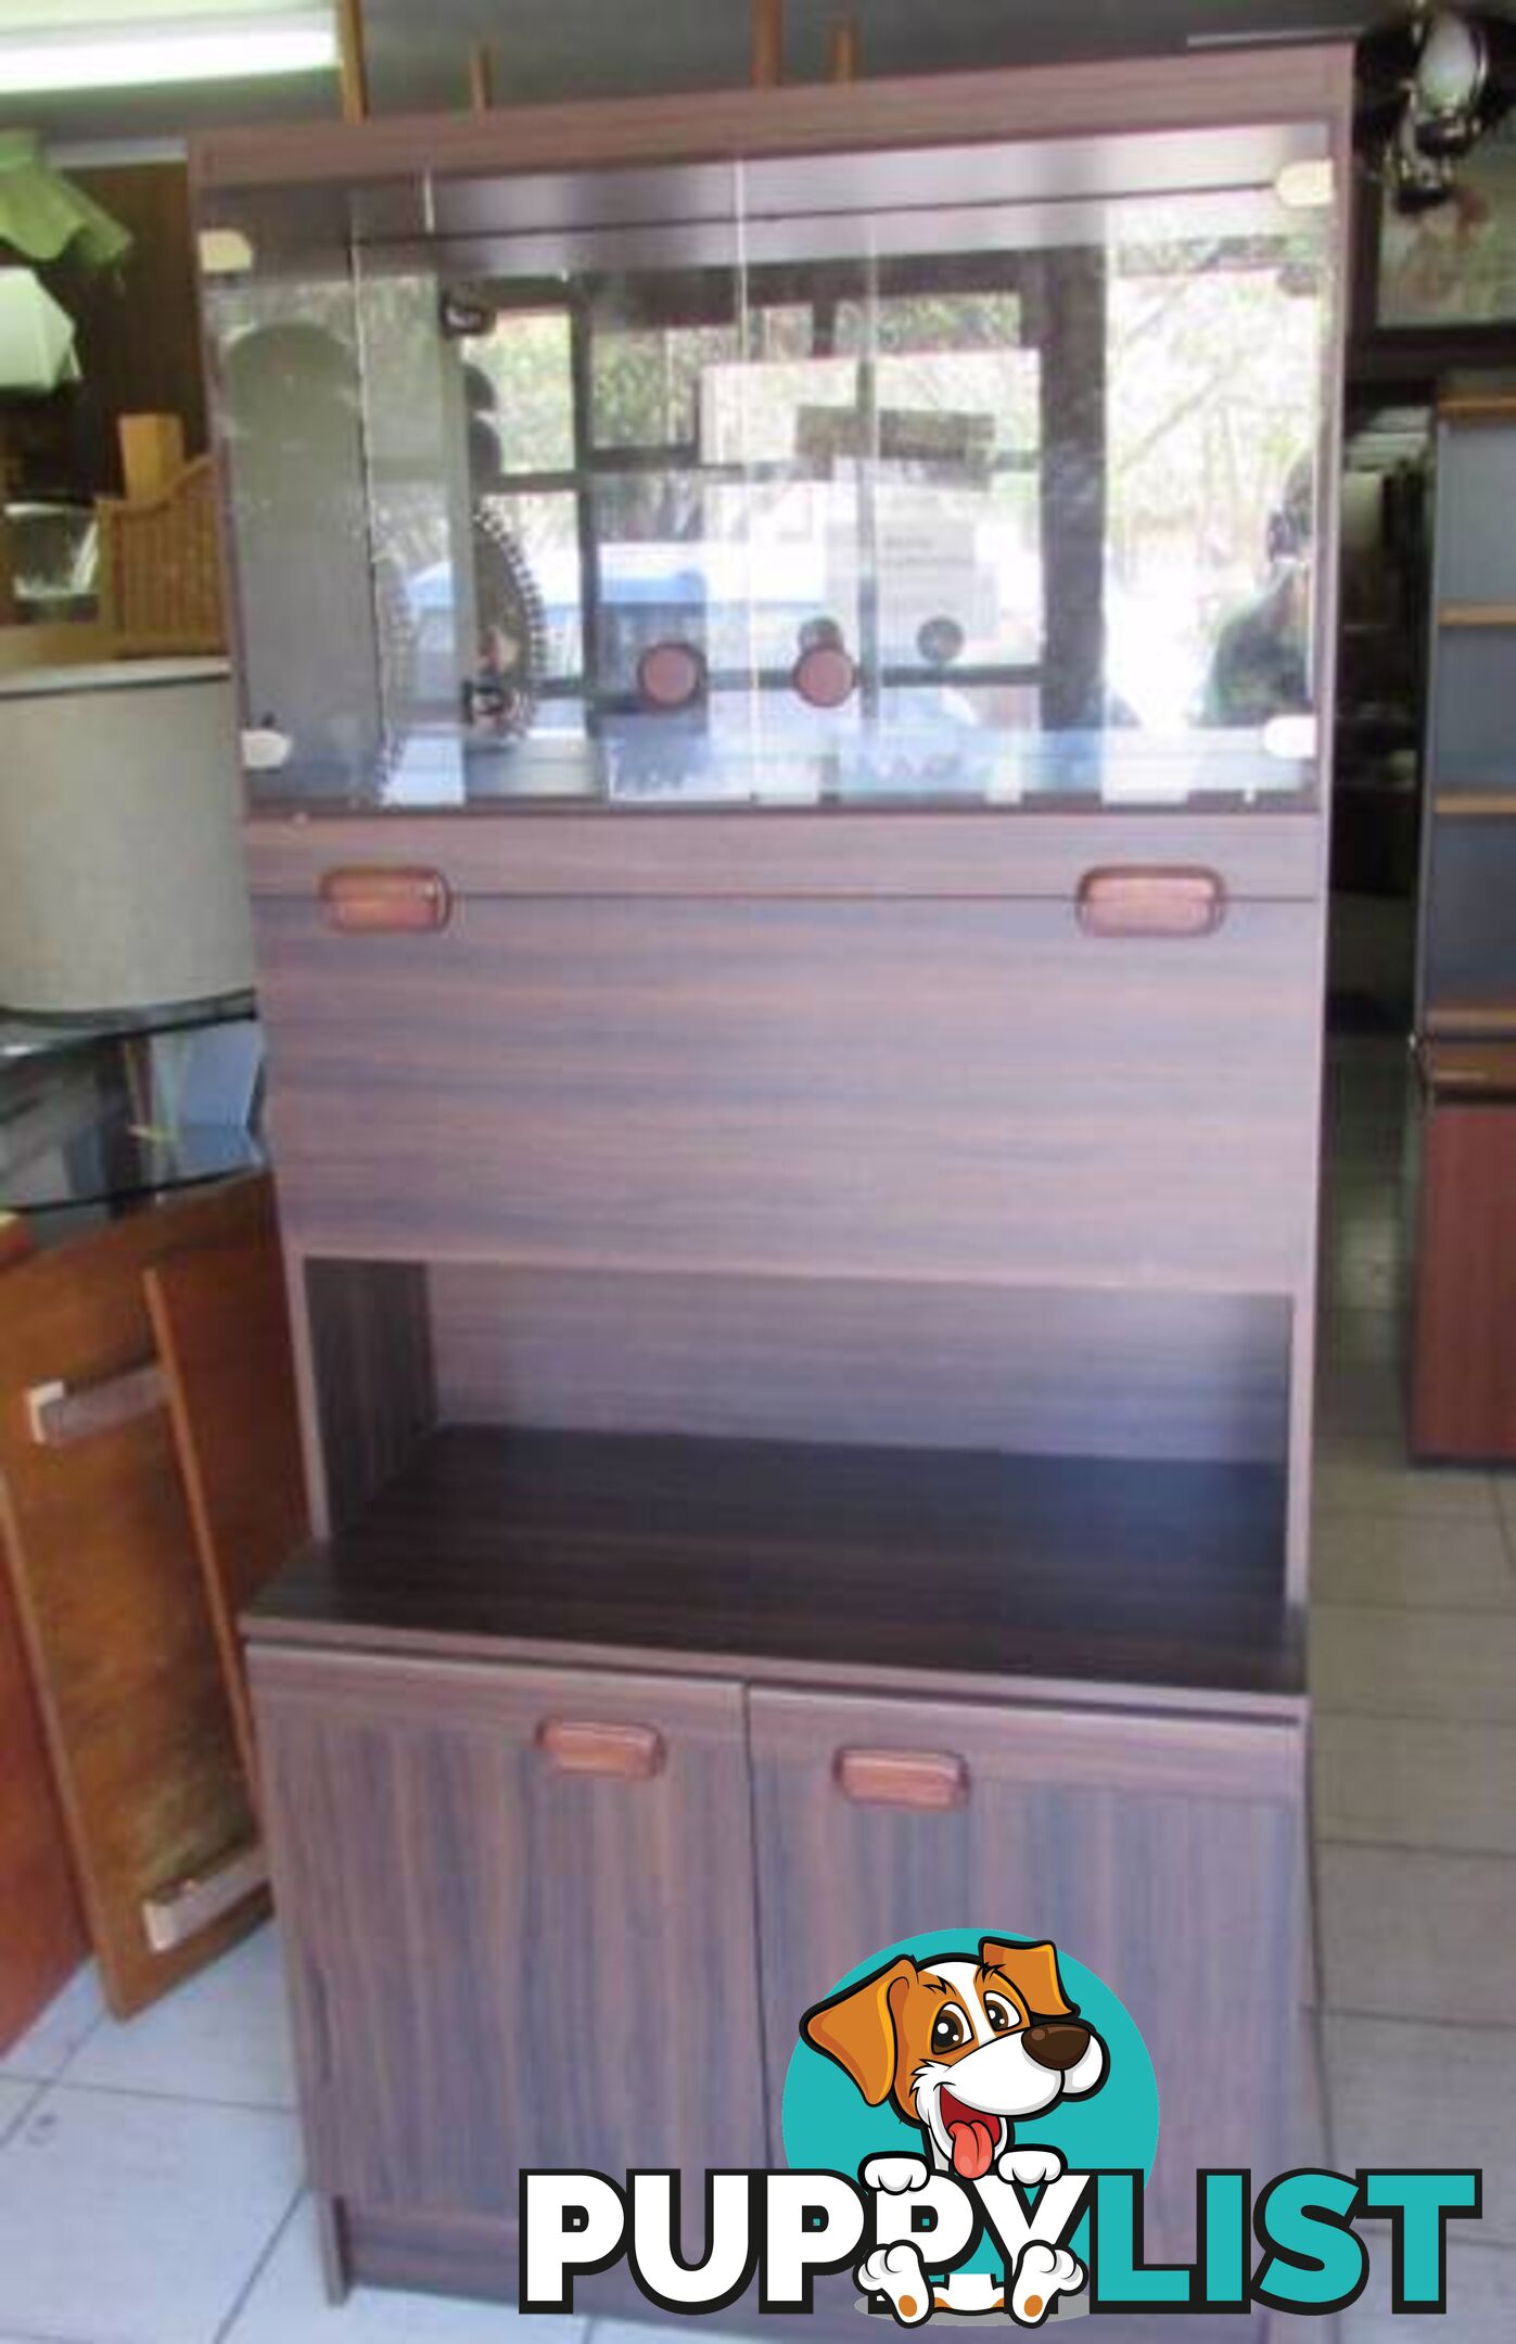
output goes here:
[[[1495, 2344], [1516, 2335], [1516, 1477], [1404, 1465], [1404, 1078], [1399, 1045], [1333, 1050], [1314, 2025], [1338, 2161], [1486, 2166], [1450, 2318], [1389, 2318], [1375, 2276], [1345, 2344]], [[291, 2105], [272, 1931], [129, 2028], [80, 1976], [0, 2060], [0, 2344], [581, 2344], [494, 2306], [328, 2311]]]

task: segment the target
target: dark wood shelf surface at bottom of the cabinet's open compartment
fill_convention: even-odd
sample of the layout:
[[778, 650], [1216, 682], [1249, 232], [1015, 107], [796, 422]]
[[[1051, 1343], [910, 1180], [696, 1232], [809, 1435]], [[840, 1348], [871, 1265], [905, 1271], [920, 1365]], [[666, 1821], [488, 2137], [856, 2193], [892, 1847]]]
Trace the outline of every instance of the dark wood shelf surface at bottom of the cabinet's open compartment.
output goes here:
[[258, 1634], [1293, 1695], [1284, 1474], [581, 1432], [433, 1432]]

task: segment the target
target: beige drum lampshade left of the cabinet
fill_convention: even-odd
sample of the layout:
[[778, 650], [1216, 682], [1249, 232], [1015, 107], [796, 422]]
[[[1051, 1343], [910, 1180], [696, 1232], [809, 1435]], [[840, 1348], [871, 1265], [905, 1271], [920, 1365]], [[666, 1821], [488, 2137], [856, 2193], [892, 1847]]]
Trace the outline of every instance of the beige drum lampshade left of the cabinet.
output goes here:
[[0, 675], [0, 1008], [162, 1008], [253, 982], [220, 659]]

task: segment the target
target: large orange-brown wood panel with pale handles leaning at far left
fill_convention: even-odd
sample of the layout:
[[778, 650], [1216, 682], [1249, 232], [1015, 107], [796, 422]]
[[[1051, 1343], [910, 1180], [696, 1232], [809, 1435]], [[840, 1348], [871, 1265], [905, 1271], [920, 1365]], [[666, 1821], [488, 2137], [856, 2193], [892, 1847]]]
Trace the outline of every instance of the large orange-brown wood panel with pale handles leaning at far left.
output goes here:
[[0, 1524], [101, 1981], [129, 2016], [267, 1910], [155, 1953], [148, 1896], [253, 1838], [169, 1411], [45, 1449], [26, 1390], [103, 1383], [152, 1357], [143, 1273], [272, 1228], [265, 1179], [115, 1221], [5, 1277]]

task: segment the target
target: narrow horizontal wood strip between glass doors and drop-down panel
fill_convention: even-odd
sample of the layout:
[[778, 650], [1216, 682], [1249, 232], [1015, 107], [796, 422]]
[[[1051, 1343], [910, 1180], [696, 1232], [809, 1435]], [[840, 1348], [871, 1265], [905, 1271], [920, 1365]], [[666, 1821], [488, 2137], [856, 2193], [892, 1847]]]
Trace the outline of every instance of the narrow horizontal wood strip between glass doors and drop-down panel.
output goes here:
[[255, 895], [312, 898], [347, 865], [441, 872], [452, 895], [893, 898], [1057, 895], [1106, 865], [1193, 863], [1228, 898], [1310, 902], [1324, 884], [1314, 813], [975, 811], [813, 806], [670, 813], [527, 809], [258, 818], [244, 830]]

